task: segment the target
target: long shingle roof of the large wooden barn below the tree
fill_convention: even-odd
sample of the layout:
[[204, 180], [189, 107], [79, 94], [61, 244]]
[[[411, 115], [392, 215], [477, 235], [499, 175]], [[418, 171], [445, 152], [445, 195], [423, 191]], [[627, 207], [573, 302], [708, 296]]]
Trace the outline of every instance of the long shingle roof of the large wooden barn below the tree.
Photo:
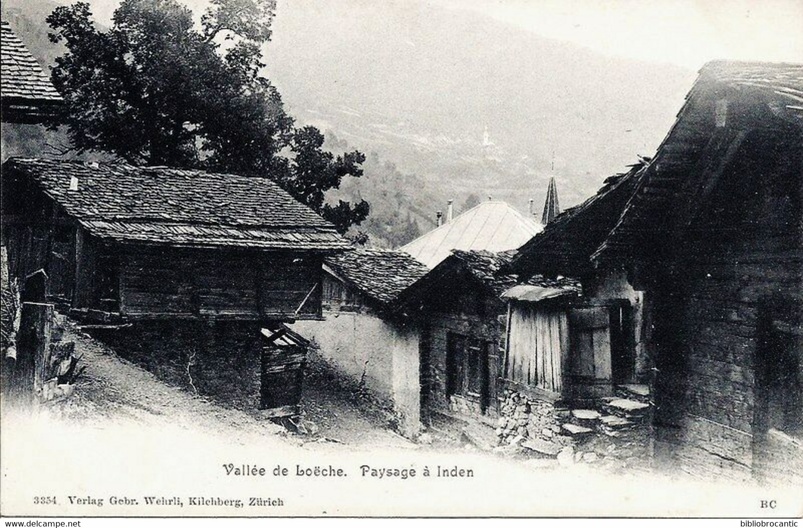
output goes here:
[[6, 160], [2, 169], [4, 183], [34, 185], [100, 238], [171, 246], [351, 249], [334, 225], [267, 178], [22, 158]]

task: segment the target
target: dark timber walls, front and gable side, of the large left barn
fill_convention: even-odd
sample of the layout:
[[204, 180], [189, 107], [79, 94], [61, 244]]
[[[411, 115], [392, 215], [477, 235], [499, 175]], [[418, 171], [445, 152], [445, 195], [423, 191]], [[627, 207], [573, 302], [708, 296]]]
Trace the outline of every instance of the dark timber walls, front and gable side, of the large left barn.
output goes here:
[[320, 318], [321, 254], [101, 240], [29, 181], [3, 183], [10, 274], [44, 269], [51, 297], [74, 308], [128, 319]]

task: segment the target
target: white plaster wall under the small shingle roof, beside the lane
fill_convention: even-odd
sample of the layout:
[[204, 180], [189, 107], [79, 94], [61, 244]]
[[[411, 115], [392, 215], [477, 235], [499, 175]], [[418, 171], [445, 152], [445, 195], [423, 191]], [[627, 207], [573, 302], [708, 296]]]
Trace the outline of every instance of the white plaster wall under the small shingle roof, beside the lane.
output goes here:
[[418, 331], [396, 327], [376, 315], [358, 312], [324, 312], [324, 321], [298, 321], [294, 331], [314, 339], [320, 354], [340, 372], [389, 400], [402, 417], [402, 433], [414, 436], [420, 424]]

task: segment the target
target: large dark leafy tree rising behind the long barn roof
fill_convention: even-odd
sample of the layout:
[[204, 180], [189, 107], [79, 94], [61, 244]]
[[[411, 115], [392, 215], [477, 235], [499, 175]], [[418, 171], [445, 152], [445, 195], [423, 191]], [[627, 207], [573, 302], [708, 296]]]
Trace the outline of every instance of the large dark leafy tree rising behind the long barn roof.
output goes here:
[[262, 75], [275, 0], [211, 0], [200, 24], [176, 0], [123, 0], [100, 31], [87, 3], [47, 18], [62, 124], [79, 152], [133, 164], [270, 177], [341, 233], [369, 213], [365, 201], [329, 205], [324, 195], [360, 177], [365, 156], [335, 156], [314, 127], [296, 128]]

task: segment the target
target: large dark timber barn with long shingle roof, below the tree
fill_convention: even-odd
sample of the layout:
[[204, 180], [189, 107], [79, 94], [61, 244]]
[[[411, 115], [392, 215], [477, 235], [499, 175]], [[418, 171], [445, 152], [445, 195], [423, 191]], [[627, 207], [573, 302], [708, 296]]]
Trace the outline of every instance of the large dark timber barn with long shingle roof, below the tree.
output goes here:
[[324, 256], [350, 246], [264, 178], [38, 159], [2, 165], [11, 274], [99, 321], [320, 319]]

